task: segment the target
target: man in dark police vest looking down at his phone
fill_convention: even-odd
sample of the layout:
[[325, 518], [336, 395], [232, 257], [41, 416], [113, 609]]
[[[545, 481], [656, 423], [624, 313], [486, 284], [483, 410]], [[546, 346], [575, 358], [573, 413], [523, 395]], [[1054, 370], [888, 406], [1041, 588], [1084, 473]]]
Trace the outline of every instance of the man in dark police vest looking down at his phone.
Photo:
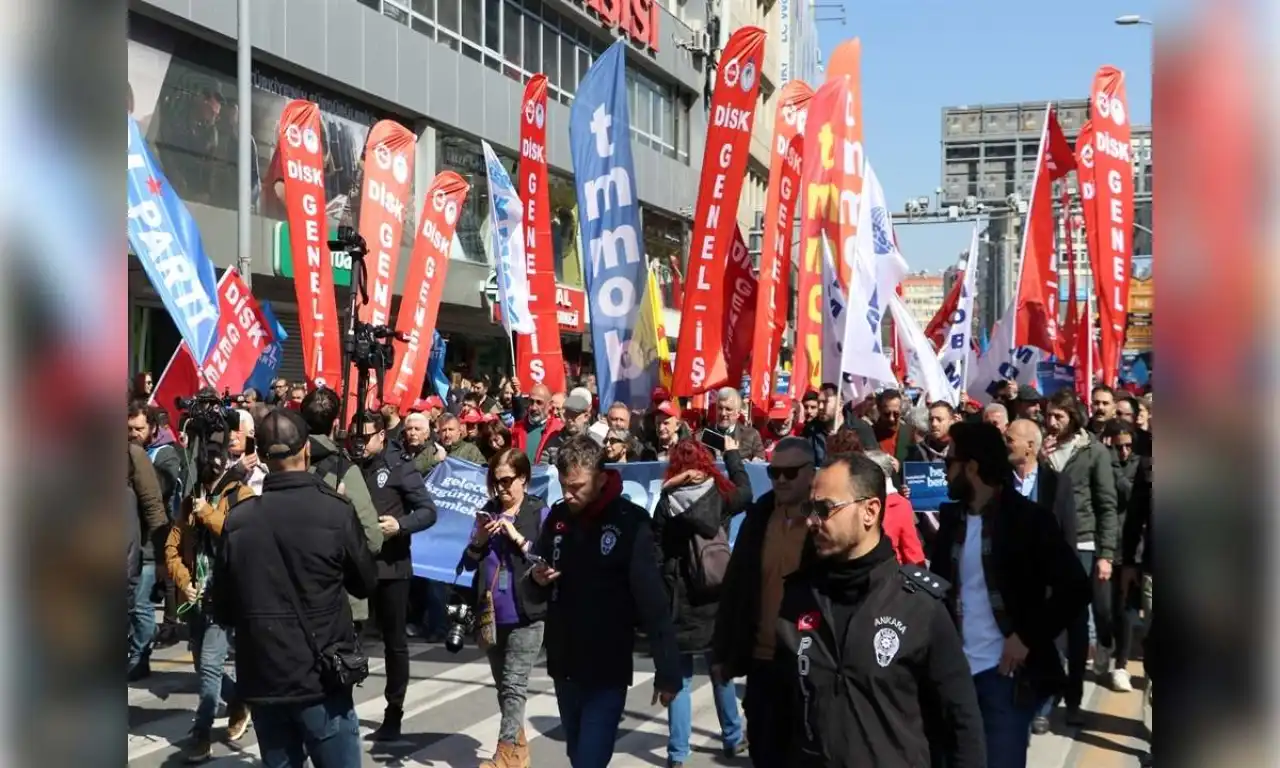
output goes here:
[[570, 764], [604, 768], [631, 687], [635, 627], [649, 637], [654, 704], [681, 689], [680, 652], [649, 513], [622, 495], [622, 476], [588, 435], [561, 447], [556, 468], [563, 497], [543, 524], [535, 552], [547, 564], [532, 570], [541, 589], [530, 596], [547, 605], [547, 672]]

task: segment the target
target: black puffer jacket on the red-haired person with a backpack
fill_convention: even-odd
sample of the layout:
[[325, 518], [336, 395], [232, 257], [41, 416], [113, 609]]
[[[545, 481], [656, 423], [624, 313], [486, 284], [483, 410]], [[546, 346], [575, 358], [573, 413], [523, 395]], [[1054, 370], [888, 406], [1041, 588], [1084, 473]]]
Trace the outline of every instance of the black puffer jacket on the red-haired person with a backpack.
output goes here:
[[[676, 627], [676, 645], [681, 653], [698, 653], [712, 646], [716, 631], [716, 613], [719, 600], [695, 600], [690, 595], [689, 575], [694, 534], [710, 539], [718, 530], [728, 532], [730, 520], [751, 503], [751, 481], [737, 451], [724, 452], [724, 468], [733, 481], [730, 498], [721, 495], [714, 483], [705, 488], [681, 486], [663, 489], [653, 512], [653, 541], [671, 607], [671, 621]], [[701, 490], [694, 500], [687, 497], [694, 488]]]

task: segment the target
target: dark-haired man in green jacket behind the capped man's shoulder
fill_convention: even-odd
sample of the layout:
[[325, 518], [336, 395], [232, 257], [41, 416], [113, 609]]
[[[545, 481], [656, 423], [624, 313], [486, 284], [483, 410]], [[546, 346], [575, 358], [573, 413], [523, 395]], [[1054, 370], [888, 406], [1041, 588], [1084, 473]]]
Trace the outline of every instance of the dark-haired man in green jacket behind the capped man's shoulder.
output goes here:
[[[378, 554], [383, 549], [383, 530], [378, 525], [378, 509], [369, 494], [365, 476], [360, 467], [348, 460], [330, 436], [338, 425], [338, 412], [342, 401], [333, 389], [321, 387], [302, 399], [302, 420], [311, 431], [311, 471], [324, 477], [325, 485], [351, 499], [356, 507], [356, 517], [365, 531], [369, 550]], [[351, 600], [352, 621], [369, 620], [369, 602]]]

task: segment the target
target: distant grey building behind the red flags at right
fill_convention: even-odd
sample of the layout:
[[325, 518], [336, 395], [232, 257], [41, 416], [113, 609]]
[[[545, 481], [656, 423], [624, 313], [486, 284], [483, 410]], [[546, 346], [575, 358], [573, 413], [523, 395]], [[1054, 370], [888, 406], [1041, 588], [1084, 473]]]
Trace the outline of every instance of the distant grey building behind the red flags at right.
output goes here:
[[[1021, 219], [1030, 200], [1032, 179], [1044, 124], [1044, 101], [992, 104], [945, 108], [942, 110], [942, 188], [941, 205], [964, 207], [968, 202], [987, 209], [1006, 210], [1010, 204], [1019, 210], [996, 212], [987, 230], [989, 247], [978, 262], [977, 316], [991, 328], [1004, 314], [1014, 294], [1020, 268]], [[1055, 102], [1059, 124], [1073, 145], [1080, 127], [1089, 116], [1087, 99]], [[1134, 157], [1134, 233], [1133, 250], [1138, 256], [1151, 255], [1151, 127], [1135, 125], [1132, 136]], [[1071, 184], [1075, 214], [1079, 214], [1079, 191], [1075, 175]], [[1057, 269], [1061, 306], [1069, 296], [1069, 259], [1066, 229], [1060, 211], [1061, 188], [1055, 187], [1055, 216], [1059, 220]], [[1015, 200], [1011, 200], [1015, 196]], [[1076, 293], [1080, 298], [1093, 288], [1083, 224], [1074, 227], [1071, 253], [1075, 256]]]

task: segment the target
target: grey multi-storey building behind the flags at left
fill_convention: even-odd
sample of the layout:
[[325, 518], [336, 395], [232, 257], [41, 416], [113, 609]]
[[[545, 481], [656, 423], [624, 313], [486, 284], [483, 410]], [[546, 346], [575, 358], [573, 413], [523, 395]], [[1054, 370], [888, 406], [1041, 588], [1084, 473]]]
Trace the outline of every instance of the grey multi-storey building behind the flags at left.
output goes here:
[[[639, 0], [644, 4], [644, 0]], [[236, 0], [134, 0], [129, 10], [129, 109], [170, 184], [200, 225], [219, 268], [237, 257]], [[648, 4], [645, 4], [648, 5]], [[681, 13], [687, 17], [687, 8]], [[689, 4], [696, 6], [699, 4]], [[609, 6], [612, 8], [612, 6]], [[568, 114], [581, 77], [616, 38], [628, 38], [631, 143], [645, 250], [678, 261], [687, 250], [705, 136], [705, 60], [676, 45], [690, 23], [663, 4], [649, 27], [611, 22], [598, 0], [293, 0], [251, 5], [253, 44], [252, 284], [271, 302], [291, 339], [282, 374], [301, 375], [288, 228], [276, 189], [264, 187], [275, 156], [280, 110], [291, 99], [320, 105], [329, 225], [358, 220], [366, 133], [394, 119], [417, 136], [415, 210], [440, 170], [471, 184], [458, 220], [438, 329], [451, 370], [511, 367], [509, 342], [486, 297], [488, 179], [480, 140], [515, 170], [524, 84], [548, 76], [548, 164], [561, 325], [571, 367], [590, 358], [572, 186]], [[402, 289], [413, 239], [406, 221]], [[349, 260], [334, 256], [338, 306], [347, 306]], [[671, 276], [669, 270], [659, 274]], [[668, 297], [669, 287], [664, 291]], [[178, 334], [131, 257], [131, 366], [159, 371]]]

